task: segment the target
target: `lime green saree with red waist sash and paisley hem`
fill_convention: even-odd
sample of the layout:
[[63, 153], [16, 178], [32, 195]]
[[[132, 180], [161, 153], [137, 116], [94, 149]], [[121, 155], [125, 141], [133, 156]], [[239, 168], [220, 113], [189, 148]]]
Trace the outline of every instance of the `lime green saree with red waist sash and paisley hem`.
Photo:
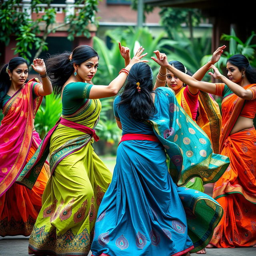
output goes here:
[[62, 115], [63, 121], [46, 135], [18, 178], [31, 188], [50, 153], [51, 177], [30, 236], [29, 254], [87, 255], [90, 251], [98, 207], [112, 176], [92, 147], [100, 110], [100, 100], [87, 99], [75, 113]]

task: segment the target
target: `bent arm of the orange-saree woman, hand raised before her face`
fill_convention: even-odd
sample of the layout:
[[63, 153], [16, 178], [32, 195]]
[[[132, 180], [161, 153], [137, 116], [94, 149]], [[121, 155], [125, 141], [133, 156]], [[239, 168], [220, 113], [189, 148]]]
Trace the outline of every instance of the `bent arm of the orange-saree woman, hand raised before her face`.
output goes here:
[[239, 84], [232, 82], [231, 80], [226, 78], [226, 76], [223, 76], [222, 74], [220, 74], [216, 66], [211, 65], [210, 68], [214, 70], [214, 73], [209, 72], [208, 73], [209, 75], [213, 76], [214, 78], [222, 80], [230, 88], [230, 90], [232, 90], [232, 92], [234, 92], [234, 94], [236, 94], [238, 97], [244, 100], [252, 100], [253, 92], [250, 89], [246, 90]]

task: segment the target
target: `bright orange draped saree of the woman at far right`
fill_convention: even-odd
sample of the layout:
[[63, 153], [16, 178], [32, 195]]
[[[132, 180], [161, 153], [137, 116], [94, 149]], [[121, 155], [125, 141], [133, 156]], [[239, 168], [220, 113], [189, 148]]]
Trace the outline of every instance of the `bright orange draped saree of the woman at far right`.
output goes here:
[[230, 166], [214, 185], [213, 198], [223, 207], [224, 216], [210, 243], [224, 248], [249, 247], [256, 244], [256, 130], [253, 127], [230, 135], [246, 102], [230, 94], [222, 106], [221, 154], [230, 158]]

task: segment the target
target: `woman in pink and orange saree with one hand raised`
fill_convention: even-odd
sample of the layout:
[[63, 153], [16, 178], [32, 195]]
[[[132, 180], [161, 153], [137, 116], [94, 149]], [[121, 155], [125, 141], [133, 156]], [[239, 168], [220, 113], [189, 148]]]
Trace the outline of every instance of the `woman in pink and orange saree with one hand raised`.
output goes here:
[[30, 235], [48, 181], [46, 164], [32, 190], [15, 183], [41, 142], [34, 130], [34, 117], [42, 95], [52, 91], [43, 60], [34, 60], [32, 66], [42, 76], [43, 85], [37, 78], [25, 82], [28, 63], [20, 57], [10, 60], [0, 72], [4, 114], [0, 126], [0, 236]]

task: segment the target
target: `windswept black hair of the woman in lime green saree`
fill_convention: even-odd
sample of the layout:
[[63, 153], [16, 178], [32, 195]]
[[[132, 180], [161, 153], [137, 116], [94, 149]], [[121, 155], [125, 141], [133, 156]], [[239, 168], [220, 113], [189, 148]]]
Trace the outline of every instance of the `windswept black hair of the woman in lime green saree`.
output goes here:
[[54, 54], [46, 61], [46, 71], [55, 94], [59, 94], [62, 86], [74, 72], [73, 64], [78, 66], [90, 60], [93, 57], [98, 57], [98, 53], [88, 45], [80, 45], [72, 52], [72, 59], [70, 61], [71, 52], [63, 52], [62, 54]]

